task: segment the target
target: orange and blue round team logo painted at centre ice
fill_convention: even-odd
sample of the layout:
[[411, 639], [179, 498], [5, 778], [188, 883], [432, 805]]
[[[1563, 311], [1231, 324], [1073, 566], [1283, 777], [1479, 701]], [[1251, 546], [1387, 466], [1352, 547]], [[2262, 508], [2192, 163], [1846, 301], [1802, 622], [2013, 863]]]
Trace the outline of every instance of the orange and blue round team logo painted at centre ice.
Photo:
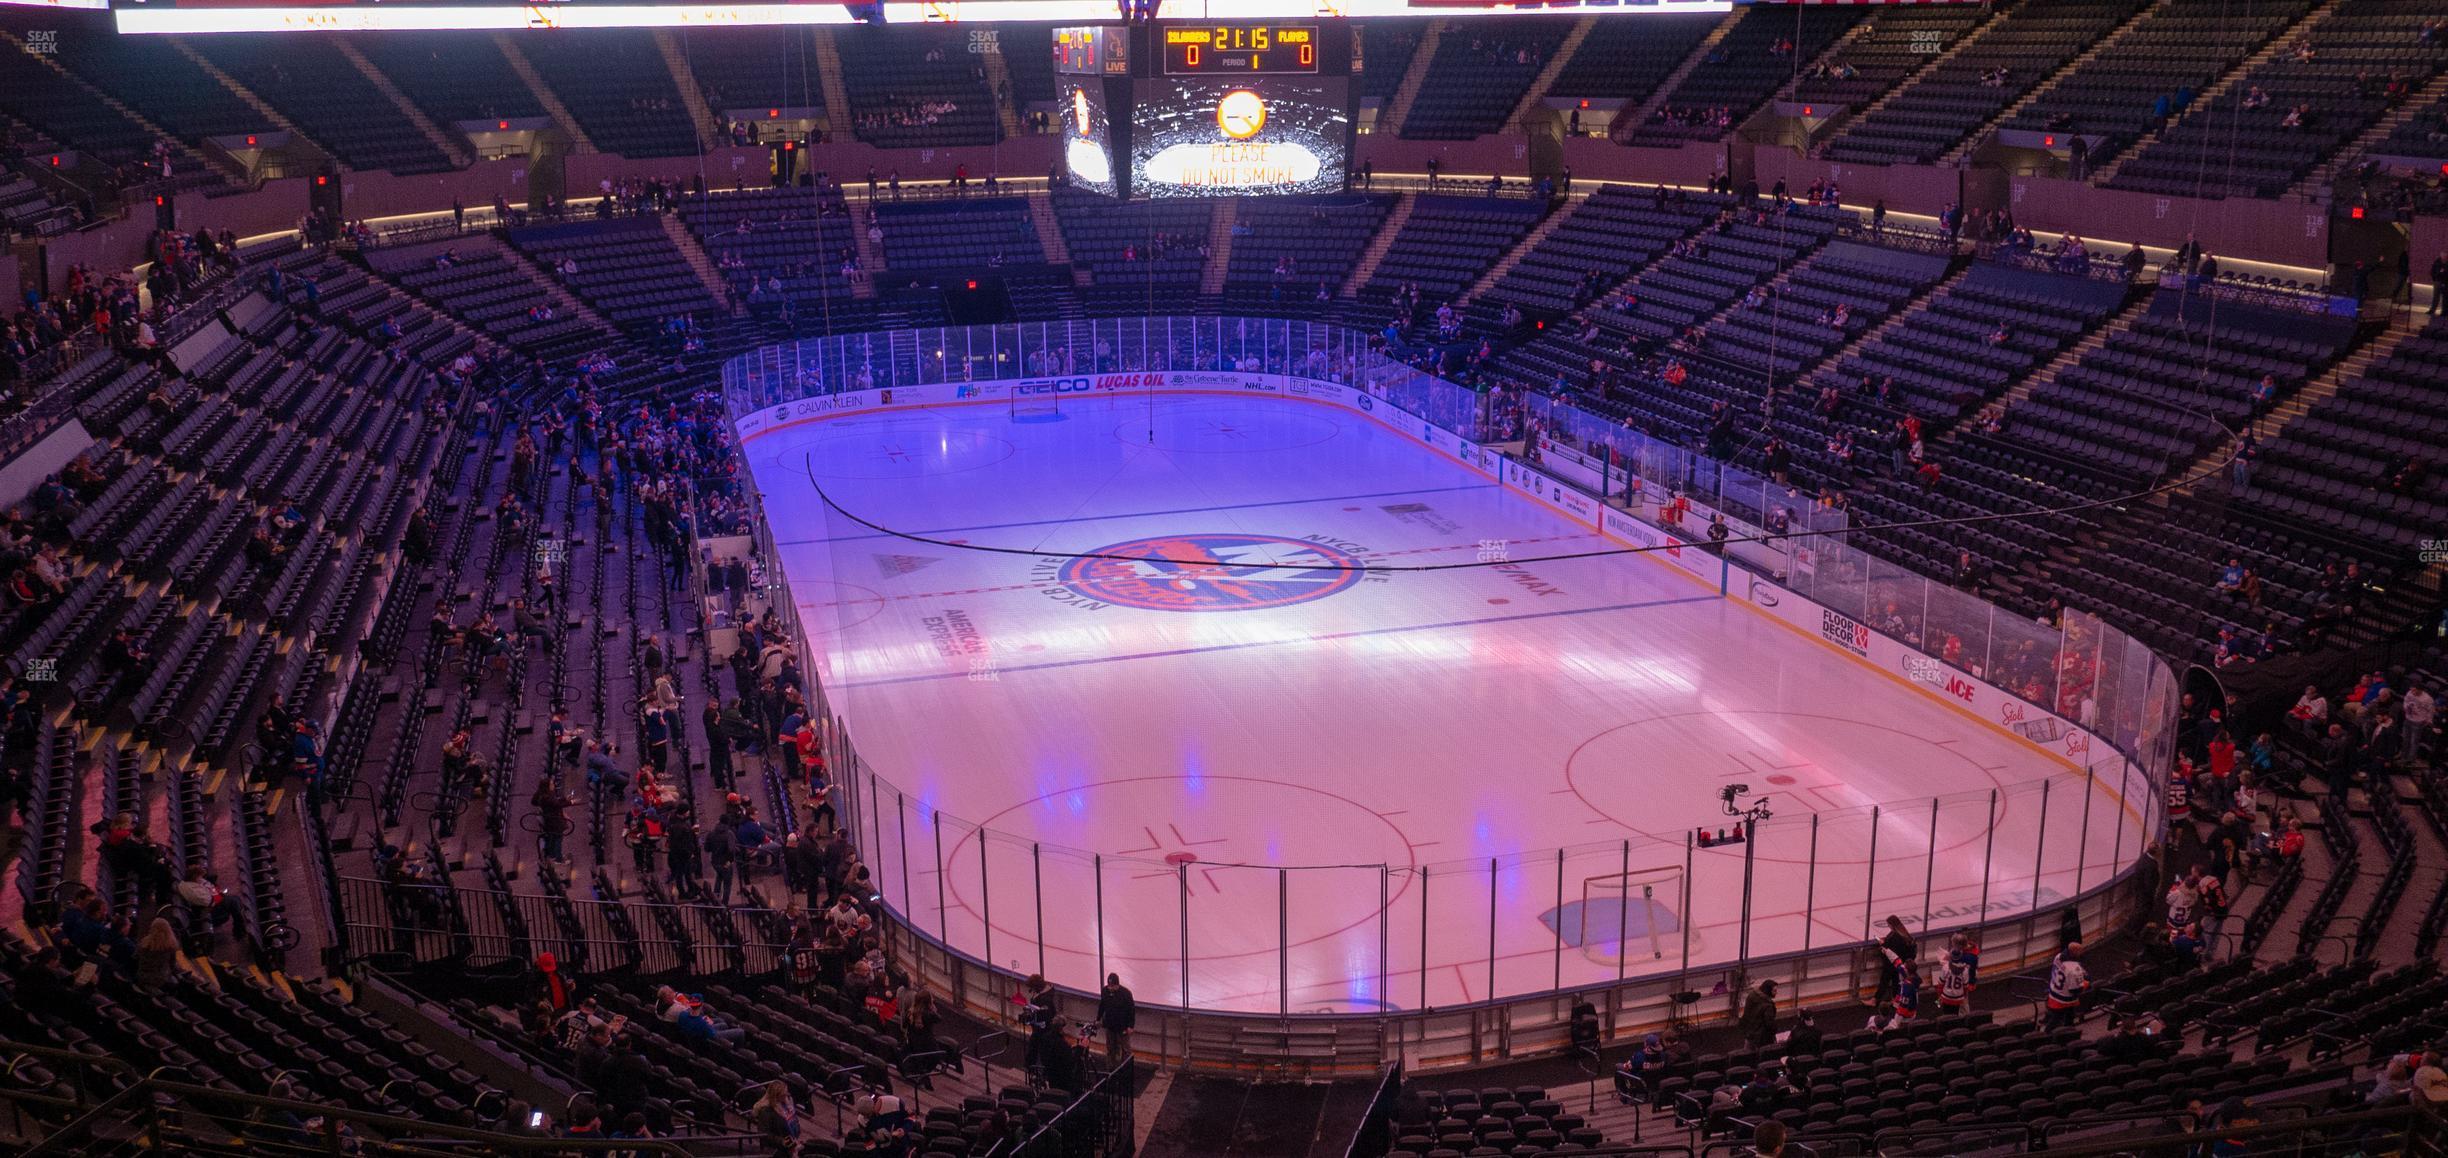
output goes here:
[[1148, 612], [1256, 612], [1349, 590], [1361, 566], [1337, 546], [1278, 534], [1165, 534], [1072, 558], [1058, 583]]

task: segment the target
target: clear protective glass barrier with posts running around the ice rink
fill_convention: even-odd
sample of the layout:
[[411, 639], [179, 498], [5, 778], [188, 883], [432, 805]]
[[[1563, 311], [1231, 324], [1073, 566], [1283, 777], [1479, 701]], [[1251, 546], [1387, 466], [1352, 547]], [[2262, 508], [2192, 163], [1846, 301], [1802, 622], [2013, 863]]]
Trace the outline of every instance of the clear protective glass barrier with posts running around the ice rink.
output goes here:
[[[778, 424], [835, 409], [835, 394], [869, 389], [999, 384], [1031, 375], [1094, 377], [1104, 389], [1111, 375], [1170, 375], [1143, 382], [1160, 389], [1224, 372], [1332, 382], [1464, 441], [1496, 431], [1481, 394], [1403, 365], [1359, 331], [1280, 318], [1102, 318], [818, 338], [732, 360], [725, 394], [734, 416], [766, 411], [764, 419]], [[842, 402], [884, 404], [889, 397]], [[1856, 614], [1853, 627], [1909, 637], [1944, 659], [1951, 668], [1934, 666], [1936, 678], [1944, 671], [1998, 673], [2005, 659], [2029, 661], [2032, 673], [2012, 690], [2047, 712], [2098, 727], [2100, 747], [2120, 759], [2093, 756], [2078, 774], [1985, 793], [1819, 813], [1760, 827], [1736, 852], [1684, 835], [1444, 864], [1200, 864], [1202, 876], [1229, 874], [1253, 894], [1275, 896], [1261, 916], [1202, 901], [1209, 889], [1192, 889], [1187, 864], [1067, 850], [955, 818], [864, 764], [849, 722], [820, 710], [849, 805], [845, 823], [876, 872], [884, 903], [901, 918], [886, 930], [901, 957], [938, 989], [987, 1011], [1004, 1004], [1013, 974], [1040, 972], [1070, 992], [1082, 1016], [1102, 974], [1126, 962], [1129, 984], [1143, 1001], [1177, 1011], [1158, 1016], [1155, 1033], [1138, 1036], [1143, 1050], [1168, 1058], [1192, 1058], [1187, 1038], [1200, 1018], [1395, 1018], [1373, 1065], [1420, 1063], [1422, 1050], [1447, 1036], [1466, 1038], [1469, 1058], [1559, 1048], [1554, 994], [1574, 989], [1603, 989], [1613, 1033], [1684, 1016], [1694, 1009], [1674, 996], [1741, 992], [1745, 977], [1782, 977], [1799, 1001], [1851, 996], [1870, 965], [1856, 952], [1860, 940], [1838, 935], [1831, 945], [1819, 925], [1851, 928], [1863, 940], [1883, 913], [1900, 913], [1924, 933], [1980, 928], [1988, 962], [2012, 967], [2054, 952], [2056, 921], [2042, 916], [2071, 903], [2083, 925], [2095, 928], [2130, 911], [2137, 898], [2113, 884], [2127, 879], [2159, 827], [2157, 774], [2144, 769], [2164, 766], [2174, 720], [2174, 676], [2147, 649], [2095, 619], [2073, 617], [2064, 632], [2032, 624], [1848, 551], [1841, 519], [1765, 477], [1545, 399], [1537, 416], [1591, 450], [1579, 455], [1579, 475], [1572, 463], [1542, 463], [1550, 482], [1611, 497], [1630, 490], [1630, 512], [1650, 514], [1638, 502], [1645, 482], [1652, 499], [1679, 490], [1750, 521], [1743, 529], [1760, 531], [1758, 544], [1701, 556], [1716, 558], [1714, 570], [1694, 568], [1714, 575], [1721, 592], [1736, 566], [1797, 583]], [[1567, 446], [1557, 450], [1574, 455]], [[764, 512], [754, 521], [766, 573], [778, 585], [781, 553]], [[1880, 614], [1887, 602], [1912, 610]], [[793, 619], [798, 639], [823, 637], [796, 622], [788, 600], [776, 610]], [[825, 700], [823, 688], [815, 700]], [[2022, 722], [2022, 712], [2010, 710], [2007, 727], [2034, 744], [2061, 744], [2066, 732], [2042, 712]], [[2098, 808], [2100, 801], [2108, 808]], [[2000, 842], [2000, 818], [2010, 813], [2034, 827], [2005, 832]], [[1978, 845], [1978, 876], [1961, 864], [1961, 874], [1939, 886], [1939, 852], [1966, 845]], [[1665, 903], [1652, 903], [1660, 896], [1650, 894], [1635, 913], [1630, 881], [1643, 869], [1655, 869], [1667, 891]], [[1799, 911], [1770, 918], [1745, 906], [1736, 938], [1714, 933], [1694, 945], [1679, 913], [1694, 911], [1694, 896], [1741, 894], [1750, 874], [1763, 896], [1802, 898]], [[1601, 879], [1625, 886], [1594, 901], [1586, 886]], [[1165, 896], [1138, 896], [1133, 913], [1141, 921], [1116, 928], [1106, 913], [1111, 898], [1148, 889]], [[1293, 943], [1295, 911], [1351, 898], [1376, 903], [1339, 935]], [[1501, 913], [1520, 908], [1545, 908], [1554, 921], [1537, 930], [1506, 928]], [[1075, 943], [1048, 943], [1050, 913], [1077, 930]], [[1263, 982], [1219, 987], [1212, 957], [1263, 962]], [[1295, 989], [1295, 974], [1342, 977], [1344, 984], [1334, 994]], [[1452, 977], [1464, 982], [1457, 987]], [[1295, 1050], [1285, 1045], [1283, 1053]]]

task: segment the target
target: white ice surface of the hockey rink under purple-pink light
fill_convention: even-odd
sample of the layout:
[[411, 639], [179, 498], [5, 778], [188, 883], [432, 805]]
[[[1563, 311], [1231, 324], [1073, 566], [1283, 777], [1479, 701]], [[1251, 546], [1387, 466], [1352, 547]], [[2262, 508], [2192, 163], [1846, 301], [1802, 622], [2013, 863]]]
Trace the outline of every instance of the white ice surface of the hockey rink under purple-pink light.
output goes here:
[[1753, 957], [2137, 857], [2108, 779], [1662, 561], [1540, 561], [1621, 544], [1354, 411], [996, 399], [744, 450], [884, 898], [1058, 984], [1366, 1011], [1728, 962], [1745, 847], [1687, 837], [1736, 783], [1775, 810]]

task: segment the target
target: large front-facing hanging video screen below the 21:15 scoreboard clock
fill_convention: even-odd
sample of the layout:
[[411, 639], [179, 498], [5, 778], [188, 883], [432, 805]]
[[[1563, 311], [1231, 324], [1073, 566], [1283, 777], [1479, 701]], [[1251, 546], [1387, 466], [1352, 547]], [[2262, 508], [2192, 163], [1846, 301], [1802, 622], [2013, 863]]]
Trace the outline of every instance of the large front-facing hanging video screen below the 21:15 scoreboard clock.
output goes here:
[[1155, 76], [1136, 83], [1131, 196], [1337, 193], [1351, 166], [1342, 76]]

